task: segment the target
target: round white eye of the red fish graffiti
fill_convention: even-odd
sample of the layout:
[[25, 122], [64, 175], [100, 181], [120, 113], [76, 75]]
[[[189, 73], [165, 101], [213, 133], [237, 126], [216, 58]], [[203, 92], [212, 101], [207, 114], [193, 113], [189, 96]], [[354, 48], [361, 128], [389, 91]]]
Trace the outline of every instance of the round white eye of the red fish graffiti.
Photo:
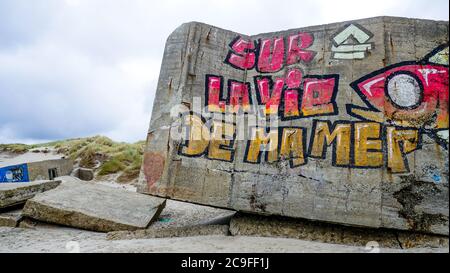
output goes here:
[[387, 95], [400, 108], [415, 108], [422, 100], [419, 82], [406, 73], [393, 75], [387, 85]]

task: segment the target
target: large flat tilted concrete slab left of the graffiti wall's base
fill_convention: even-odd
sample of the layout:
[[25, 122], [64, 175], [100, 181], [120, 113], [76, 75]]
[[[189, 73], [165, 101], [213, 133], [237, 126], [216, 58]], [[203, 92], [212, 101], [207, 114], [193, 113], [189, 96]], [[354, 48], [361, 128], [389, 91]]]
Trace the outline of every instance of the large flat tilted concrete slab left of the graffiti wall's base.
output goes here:
[[28, 200], [23, 215], [100, 232], [137, 230], [156, 220], [165, 204], [162, 198], [91, 182], [65, 181]]

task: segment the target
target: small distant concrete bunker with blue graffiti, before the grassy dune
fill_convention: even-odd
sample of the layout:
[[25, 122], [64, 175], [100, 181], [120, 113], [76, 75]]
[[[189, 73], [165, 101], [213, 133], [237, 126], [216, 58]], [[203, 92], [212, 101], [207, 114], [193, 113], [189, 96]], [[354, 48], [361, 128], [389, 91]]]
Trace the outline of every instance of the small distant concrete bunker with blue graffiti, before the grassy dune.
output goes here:
[[0, 158], [0, 183], [53, 180], [70, 175], [72, 169], [73, 161], [60, 155], [26, 153]]

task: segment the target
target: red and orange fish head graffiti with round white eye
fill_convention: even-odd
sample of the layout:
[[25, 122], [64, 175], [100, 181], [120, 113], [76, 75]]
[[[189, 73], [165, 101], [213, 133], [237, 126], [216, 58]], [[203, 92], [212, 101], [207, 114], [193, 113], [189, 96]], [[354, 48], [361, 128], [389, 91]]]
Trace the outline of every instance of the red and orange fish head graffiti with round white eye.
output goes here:
[[358, 119], [418, 130], [448, 149], [448, 81], [446, 44], [423, 60], [390, 65], [351, 83], [367, 107], [348, 104], [347, 112]]

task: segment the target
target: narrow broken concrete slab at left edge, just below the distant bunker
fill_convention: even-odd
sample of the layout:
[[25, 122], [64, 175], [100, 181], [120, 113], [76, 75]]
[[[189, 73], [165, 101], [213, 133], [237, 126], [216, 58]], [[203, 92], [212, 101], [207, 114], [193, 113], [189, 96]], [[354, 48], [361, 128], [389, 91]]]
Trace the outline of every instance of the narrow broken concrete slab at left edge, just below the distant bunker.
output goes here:
[[61, 181], [0, 183], [0, 209], [24, 204], [36, 194], [56, 188]]

